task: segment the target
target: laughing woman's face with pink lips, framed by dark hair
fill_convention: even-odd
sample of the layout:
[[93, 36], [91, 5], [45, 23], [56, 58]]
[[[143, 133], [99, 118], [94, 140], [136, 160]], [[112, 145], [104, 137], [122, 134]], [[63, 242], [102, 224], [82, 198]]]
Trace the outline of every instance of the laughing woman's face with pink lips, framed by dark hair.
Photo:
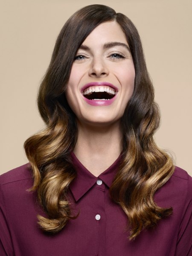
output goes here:
[[116, 21], [97, 26], [79, 47], [66, 98], [81, 123], [119, 122], [134, 91], [135, 69], [125, 34]]

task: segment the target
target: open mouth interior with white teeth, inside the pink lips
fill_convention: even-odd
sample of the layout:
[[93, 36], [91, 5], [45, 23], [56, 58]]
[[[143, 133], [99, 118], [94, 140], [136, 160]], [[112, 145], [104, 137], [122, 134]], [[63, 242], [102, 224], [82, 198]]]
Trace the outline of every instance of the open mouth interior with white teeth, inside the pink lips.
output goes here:
[[117, 92], [109, 86], [91, 86], [83, 90], [82, 93], [89, 100], [110, 100]]

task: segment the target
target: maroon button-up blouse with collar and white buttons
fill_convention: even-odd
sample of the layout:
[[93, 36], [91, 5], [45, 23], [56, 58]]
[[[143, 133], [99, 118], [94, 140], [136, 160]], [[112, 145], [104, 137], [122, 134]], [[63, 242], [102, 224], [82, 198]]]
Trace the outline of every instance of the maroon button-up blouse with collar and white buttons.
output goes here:
[[179, 167], [155, 194], [160, 207], [173, 215], [127, 239], [127, 217], [109, 195], [119, 158], [99, 177], [92, 175], [72, 154], [77, 177], [69, 190], [74, 212], [56, 235], [43, 233], [37, 214], [32, 173], [28, 165], [0, 176], [0, 256], [192, 256], [192, 178]]

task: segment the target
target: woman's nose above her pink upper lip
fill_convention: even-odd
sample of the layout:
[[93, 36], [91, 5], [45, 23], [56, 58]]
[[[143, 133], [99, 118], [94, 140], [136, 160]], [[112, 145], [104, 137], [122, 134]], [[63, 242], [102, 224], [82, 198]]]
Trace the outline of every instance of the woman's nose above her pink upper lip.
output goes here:
[[105, 77], [108, 76], [109, 70], [102, 58], [93, 59], [90, 64], [89, 76], [91, 77]]

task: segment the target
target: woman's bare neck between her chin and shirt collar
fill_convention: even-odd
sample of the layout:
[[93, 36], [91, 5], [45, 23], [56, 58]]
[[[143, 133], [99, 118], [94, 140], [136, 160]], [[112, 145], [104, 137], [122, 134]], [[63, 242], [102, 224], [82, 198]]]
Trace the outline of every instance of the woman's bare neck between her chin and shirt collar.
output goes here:
[[77, 122], [78, 137], [74, 154], [96, 177], [108, 169], [122, 151], [120, 122], [93, 127]]

